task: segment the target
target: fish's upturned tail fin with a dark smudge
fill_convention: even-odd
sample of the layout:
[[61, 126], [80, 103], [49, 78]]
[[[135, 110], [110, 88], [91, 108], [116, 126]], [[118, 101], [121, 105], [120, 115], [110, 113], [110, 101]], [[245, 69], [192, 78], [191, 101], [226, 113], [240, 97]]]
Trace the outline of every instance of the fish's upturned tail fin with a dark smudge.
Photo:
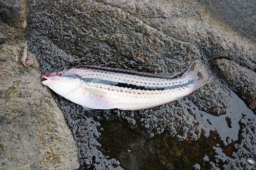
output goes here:
[[199, 61], [194, 61], [188, 70], [182, 75], [182, 77], [188, 76], [189, 79], [194, 79], [193, 89], [195, 91], [200, 87], [204, 86], [208, 81], [208, 74], [204, 65]]

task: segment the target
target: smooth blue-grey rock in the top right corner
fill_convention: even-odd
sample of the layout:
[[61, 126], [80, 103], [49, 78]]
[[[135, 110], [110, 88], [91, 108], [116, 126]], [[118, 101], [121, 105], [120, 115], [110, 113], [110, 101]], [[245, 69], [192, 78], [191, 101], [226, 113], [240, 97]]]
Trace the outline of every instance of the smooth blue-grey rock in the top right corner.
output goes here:
[[199, 1], [211, 16], [220, 19], [233, 31], [256, 41], [255, 6], [251, 0], [240, 1]]

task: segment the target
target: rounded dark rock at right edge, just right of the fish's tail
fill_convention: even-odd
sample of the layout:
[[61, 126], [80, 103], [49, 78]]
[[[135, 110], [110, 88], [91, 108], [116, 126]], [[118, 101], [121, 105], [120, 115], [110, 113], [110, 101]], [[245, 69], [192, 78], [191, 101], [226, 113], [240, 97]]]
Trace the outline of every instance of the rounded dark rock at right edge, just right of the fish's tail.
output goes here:
[[226, 59], [215, 60], [214, 64], [228, 86], [256, 111], [256, 73]]

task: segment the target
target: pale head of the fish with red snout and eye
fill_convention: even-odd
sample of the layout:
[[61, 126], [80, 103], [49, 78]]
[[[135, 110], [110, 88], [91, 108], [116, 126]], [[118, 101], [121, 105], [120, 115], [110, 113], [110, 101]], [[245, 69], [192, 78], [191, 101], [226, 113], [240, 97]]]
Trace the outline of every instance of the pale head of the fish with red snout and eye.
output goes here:
[[80, 76], [73, 74], [67, 69], [51, 71], [41, 77], [46, 79], [42, 81], [42, 84], [63, 97], [66, 97], [83, 84]]

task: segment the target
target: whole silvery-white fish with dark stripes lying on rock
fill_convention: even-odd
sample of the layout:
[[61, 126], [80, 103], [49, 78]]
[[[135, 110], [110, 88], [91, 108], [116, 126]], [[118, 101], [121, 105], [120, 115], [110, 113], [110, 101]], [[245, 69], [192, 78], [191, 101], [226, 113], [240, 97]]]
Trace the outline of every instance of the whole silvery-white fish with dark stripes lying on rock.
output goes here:
[[168, 104], [204, 86], [204, 65], [193, 62], [182, 72], [152, 74], [134, 70], [81, 65], [41, 76], [42, 84], [89, 109], [143, 110]]

